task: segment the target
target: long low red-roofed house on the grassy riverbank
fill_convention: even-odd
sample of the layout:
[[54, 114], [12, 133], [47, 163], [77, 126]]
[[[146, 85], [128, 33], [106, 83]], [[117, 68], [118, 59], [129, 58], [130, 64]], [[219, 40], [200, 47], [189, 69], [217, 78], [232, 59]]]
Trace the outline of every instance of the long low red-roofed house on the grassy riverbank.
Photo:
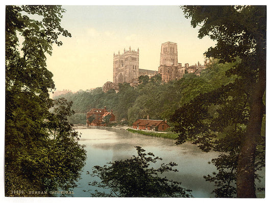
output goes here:
[[157, 131], [165, 131], [168, 127], [167, 121], [163, 120], [149, 120], [147, 119], [138, 119], [133, 124], [133, 129], [138, 130], [157, 130]]

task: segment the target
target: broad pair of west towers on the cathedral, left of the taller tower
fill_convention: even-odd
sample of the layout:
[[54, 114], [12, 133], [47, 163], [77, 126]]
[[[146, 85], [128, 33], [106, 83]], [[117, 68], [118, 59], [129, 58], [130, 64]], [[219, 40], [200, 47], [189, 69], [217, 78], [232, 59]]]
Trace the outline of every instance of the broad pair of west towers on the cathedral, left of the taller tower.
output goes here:
[[126, 49], [123, 54], [113, 54], [113, 83], [127, 82], [131, 85], [139, 77], [139, 48], [137, 51]]

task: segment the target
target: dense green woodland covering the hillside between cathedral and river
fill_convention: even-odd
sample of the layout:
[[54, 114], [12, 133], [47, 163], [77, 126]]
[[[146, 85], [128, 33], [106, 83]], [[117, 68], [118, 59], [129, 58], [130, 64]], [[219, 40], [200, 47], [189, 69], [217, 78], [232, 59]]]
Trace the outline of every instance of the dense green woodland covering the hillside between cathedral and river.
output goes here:
[[116, 116], [116, 124], [131, 125], [137, 119], [167, 119], [175, 110], [201, 93], [210, 92], [221, 85], [231, 83], [236, 76], [227, 77], [225, 72], [235, 63], [219, 64], [218, 60], [212, 60], [207, 69], [200, 76], [185, 74], [180, 80], [168, 83], [161, 82], [158, 74], [149, 78], [139, 77], [139, 85], [132, 87], [128, 83], [119, 84], [119, 92], [110, 89], [107, 93], [102, 87], [91, 91], [79, 91], [67, 93], [57, 98], [64, 97], [72, 101], [72, 109], [75, 115], [69, 117], [72, 124], [86, 124], [86, 112], [91, 108], [113, 109]]

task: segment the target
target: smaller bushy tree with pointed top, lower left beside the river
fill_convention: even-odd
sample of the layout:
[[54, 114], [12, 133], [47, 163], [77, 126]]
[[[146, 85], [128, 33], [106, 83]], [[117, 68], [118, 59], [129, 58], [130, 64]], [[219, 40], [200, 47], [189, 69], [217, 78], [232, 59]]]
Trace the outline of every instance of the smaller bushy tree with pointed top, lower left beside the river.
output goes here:
[[85, 165], [86, 151], [78, 144], [80, 134], [68, 122], [73, 114], [71, 106], [72, 102], [64, 98], [54, 101], [53, 112], [46, 123], [51, 137], [44, 138], [43, 144], [36, 143], [37, 146], [29, 150], [30, 154], [26, 154], [28, 160], [22, 164], [25, 173], [34, 176], [34, 181], [41, 181], [44, 191], [58, 188], [68, 191], [76, 187]]

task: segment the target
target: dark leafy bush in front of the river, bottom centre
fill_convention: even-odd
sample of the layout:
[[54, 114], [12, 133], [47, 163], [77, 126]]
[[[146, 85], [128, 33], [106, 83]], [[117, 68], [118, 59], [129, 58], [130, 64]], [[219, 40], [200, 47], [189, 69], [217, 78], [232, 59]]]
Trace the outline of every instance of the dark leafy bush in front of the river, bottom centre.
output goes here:
[[180, 187], [181, 183], [161, 177], [168, 171], [176, 172], [176, 163], [161, 164], [158, 169], [151, 167], [162, 160], [139, 146], [135, 147], [138, 156], [133, 155], [124, 161], [110, 162], [103, 167], [94, 166], [92, 176], [98, 176], [101, 182], [93, 181], [91, 186], [110, 189], [110, 193], [92, 193], [96, 197], [191, 197], [190, 191]]

